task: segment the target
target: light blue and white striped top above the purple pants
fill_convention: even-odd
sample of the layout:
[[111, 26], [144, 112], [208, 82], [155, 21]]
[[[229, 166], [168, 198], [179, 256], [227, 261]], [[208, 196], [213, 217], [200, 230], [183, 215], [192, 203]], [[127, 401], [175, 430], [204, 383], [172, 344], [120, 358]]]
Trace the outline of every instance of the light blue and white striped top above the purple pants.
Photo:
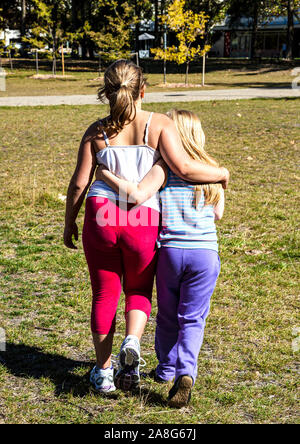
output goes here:
[[159, 247], [207, 249], [218, 252], [214, 207], [205, 206], [202, 193], [196, 209], [194, 193], [194, 185], [169, 170], [167, 184], [160, 192], [162, 230], [158, 238]]

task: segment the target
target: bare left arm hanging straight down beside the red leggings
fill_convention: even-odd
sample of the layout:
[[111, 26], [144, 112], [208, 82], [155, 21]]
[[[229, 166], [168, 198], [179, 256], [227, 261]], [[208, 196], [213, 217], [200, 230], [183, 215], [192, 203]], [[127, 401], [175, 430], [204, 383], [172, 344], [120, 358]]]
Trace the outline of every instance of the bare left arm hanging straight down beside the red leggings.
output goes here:
[[76, 169], [70, 181], [67, 194], [64, 244], [71, 249], [76, 249], [72, 240], [73, 236], [75, 237], [75, 240], [78, 240], [76, 218], [86, 192], [93, 180], [96, 166], [91, 129], [89, 129], [80, 144]]

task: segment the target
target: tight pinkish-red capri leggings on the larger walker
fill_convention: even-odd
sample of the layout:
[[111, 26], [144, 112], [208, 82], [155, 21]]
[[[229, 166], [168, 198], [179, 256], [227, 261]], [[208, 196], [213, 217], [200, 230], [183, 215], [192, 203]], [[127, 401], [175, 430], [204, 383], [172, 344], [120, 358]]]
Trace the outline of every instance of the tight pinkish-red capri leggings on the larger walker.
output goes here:
[[125, 316], [141, 310], [149, 318], [158, 229], [159, 213], [151, 208], [122, 209], [102, 197], [86, 200], [82, 240], [93, 291], [93, 333], [115, 331], [122, 278]]

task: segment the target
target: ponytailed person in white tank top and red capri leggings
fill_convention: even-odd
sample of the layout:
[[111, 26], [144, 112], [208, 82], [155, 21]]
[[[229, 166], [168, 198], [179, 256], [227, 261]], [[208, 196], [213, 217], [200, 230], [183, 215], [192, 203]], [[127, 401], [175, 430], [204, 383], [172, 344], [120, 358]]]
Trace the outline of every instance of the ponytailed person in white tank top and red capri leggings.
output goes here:
[[[144, 95], [145, 79], [135, 64], [118, 60], [106, 70], [99, 98], [108, 99], [110, 114], [86, 131], [67, 196], [64, 242], [68, 248], [76, 248], [76, 218], [88, 191], [82, 236], [93, 291], [91, 328], [97, 362], [91, 383], [102, 393], [115, 386], [132, 390], [140, 382], [140, 339], [151, 311], [160, 205], [156, 195], [139, 208], [127, 205], [127, 196], [114, 192], [102, 180], [90, 187], [97, 165], [138, 183], [163, 156], [184, 179], [221, 182], [224, 187], [229, 180], [225, 168], [192, 160], [174, 122], [142, 110]], [[111, 353], [122, 279], [126, 335], [114, 379]]]

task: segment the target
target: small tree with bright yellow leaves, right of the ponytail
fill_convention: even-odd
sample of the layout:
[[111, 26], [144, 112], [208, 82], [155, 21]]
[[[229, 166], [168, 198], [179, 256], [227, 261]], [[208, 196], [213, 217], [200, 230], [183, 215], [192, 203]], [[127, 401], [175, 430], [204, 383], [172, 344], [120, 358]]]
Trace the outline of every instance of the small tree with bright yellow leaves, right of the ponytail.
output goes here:
[[165, 49], [154, 48], [152, 53], [155, 59], [176, 62], [178, 65], [186, 63], [185, 84], [188, 84], [190, 63], [196, 57], [204, 56], [210, 46], [197, 45], [197, 40], [204, 38], [207, 17], [203, 12], [198, 14], [185, 10], [185, 0], [174, 0], [168, 7], [167, 14], [161, 16], [161, 22], [170, 31], [176, 33], [178, 46]]

